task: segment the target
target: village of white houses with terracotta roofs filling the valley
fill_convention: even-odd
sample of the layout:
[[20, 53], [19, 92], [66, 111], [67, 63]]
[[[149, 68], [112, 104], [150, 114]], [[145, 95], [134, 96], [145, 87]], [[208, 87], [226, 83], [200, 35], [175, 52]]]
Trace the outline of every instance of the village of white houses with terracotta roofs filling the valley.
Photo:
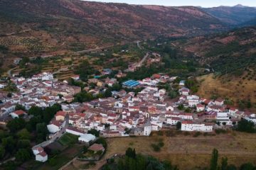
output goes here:
[[[111, 69], [104, 69], [102, 74], [111, 72]], [[125, 77], [125, 74], [119, 72], [115, 76]], [[153, 131], [176, 128], [178, 125], [182, 131], [213, 132], [218, 128], [233, 128], [241, 118], [256, 123], [254, 113], [226, 106], [221, 98], [210, 100], [192, 95], [190, 89], [185, 87], [186, 81], [179, 82], [179, 96], [171, 100], [166, 89], [157, 87], [159, 83], [170, 84], [177, 78], [166, 74], [153, 74], [139, 81], [122, 82], [122, 86], [127, 89], [142, 88], [138, 93], [121, 89], [111, 91], [111, 97], [83, 103], [73, 102], [75, 94], [82, 90], [96, 96], [106, 91], [105, 84], [113, 86], [118, 83], [114, 78], [97, 78], [88, 79], [88, 83], [96, 84], [94, 89], [81, 89], [79, 86], [68, 85], [67, 81], [54, 79], [53, 74], [48, 72], [36, 74], [29, 79], [12, 77], [10, 81], [16, 85], [18, 92], [9, 97], [1, 95], [1, 125], [21, 116], [29, 120], [33, 115], [28, 115], [26, 111], [32, 106], [46, 108], [59, 103], [62, 111], [58, 111], [47, 125], [50, 132], [48, 140], [32, 148], [36, 160], [46, 162], [48, 154], [43, 147], [65, 133], [78, 135], [79, 142], [91, 144], [97, 137], [87, 134], [89, 130], [97, 130], [101, 137], [128, 137], [149, 136]], [[80, 78], [76, 75], [72, 79], [78, 81]], [[17, 104], [26, 108], [26, 111], [15, 111]], [[102, 145], [95, 145], [92, 148], [102, 148]]]

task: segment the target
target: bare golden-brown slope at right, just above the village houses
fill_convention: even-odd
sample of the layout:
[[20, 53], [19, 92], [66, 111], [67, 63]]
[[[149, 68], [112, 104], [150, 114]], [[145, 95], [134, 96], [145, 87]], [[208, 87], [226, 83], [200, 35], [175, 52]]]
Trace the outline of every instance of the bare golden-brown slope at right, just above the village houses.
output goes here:
[[[198, 96], [210, 98], [213, 94], [218, 94], [222, 98], [230, 98], [234, 102], [239, 99], [250, 99], [256, 103], [256, 81], [254, 79], [242, 79], [235, 77], [217, 77], [208, 74], [198, 77], [201, 86], [198, 90]], [[256, 111], [256, 109], [255, 109]]]

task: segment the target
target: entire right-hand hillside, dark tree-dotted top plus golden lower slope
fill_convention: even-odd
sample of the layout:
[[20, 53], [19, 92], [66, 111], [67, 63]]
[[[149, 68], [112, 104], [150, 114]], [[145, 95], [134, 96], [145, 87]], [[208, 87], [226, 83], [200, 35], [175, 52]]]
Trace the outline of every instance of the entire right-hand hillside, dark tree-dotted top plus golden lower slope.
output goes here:
[[[215, 74], [198, 77], [198, 95], [229, 98], [237, 106], [250, 101], [256, 108], [256, 28], [239, 28], [219, 35], [176, 42]], [[211, 70], [212, 71], [212, 70]]]

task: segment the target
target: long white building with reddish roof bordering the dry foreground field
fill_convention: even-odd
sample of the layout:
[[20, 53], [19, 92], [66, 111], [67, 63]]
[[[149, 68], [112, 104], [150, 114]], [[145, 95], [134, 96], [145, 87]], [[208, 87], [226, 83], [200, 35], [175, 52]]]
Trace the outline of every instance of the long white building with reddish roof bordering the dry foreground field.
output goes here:
[[181, 130], [183, 131], [199, 131], [199, 132], [212, 132], [213, 125], [203, 123], [193, 123], [193, 121], [183, 121], [181, 123]]

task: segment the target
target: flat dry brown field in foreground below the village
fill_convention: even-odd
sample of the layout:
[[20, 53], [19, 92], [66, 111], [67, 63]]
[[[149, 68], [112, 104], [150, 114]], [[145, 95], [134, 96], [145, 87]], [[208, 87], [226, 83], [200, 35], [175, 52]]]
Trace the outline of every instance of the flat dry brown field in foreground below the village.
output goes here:
[[[151, 144], [164, 140], [161, 152], [154, 152]], [[256, 135], [232, 132], [229, 134], [199, 137], [192, 135], [178, 135], [166, 137], [153, 135], [151, 137], [120, 137], [107, 139], [107, 152], [97, 166], [98, 169], [105, 163], [105, 159], [114, 154], [122, 154], [127, 147], [135, 148], [137, 153], [149, 154], [161, 160], [168, 159], [172, 164], [178, 165], [179, 169], [196, 169], [206, 167], [210, 163], [210, 154], [213, 148], [218, 149], [220, 157], [228, 157], [229, 164], [253, 162], [256, 164]], [[75, 161], [65, 170], [80, 169], [84, 162]]]

